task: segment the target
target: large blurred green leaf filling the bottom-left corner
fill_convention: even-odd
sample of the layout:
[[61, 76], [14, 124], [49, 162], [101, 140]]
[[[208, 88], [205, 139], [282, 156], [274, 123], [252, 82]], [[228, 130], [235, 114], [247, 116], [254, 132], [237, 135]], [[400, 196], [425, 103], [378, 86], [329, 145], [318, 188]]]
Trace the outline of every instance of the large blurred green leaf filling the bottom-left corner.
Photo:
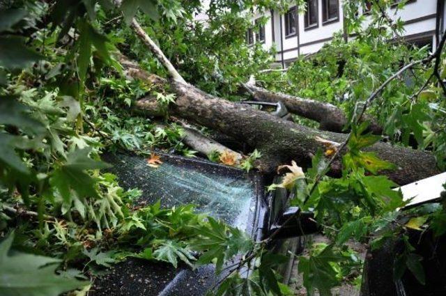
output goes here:
[[57, 296], [89, 284], [56, 275], [55, 263], [61, 260], [17, 252], [10, 254], [13, 238], [11, 234], [0, 243], [0, 295]]

